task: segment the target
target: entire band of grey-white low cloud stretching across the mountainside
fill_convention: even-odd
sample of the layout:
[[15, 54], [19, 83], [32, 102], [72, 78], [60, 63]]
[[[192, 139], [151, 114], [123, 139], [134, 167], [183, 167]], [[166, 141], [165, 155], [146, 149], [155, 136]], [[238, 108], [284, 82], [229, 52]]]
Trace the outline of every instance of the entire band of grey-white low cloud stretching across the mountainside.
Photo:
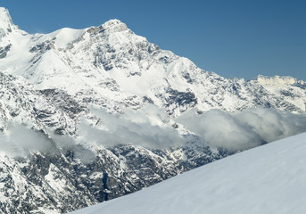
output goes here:
[[[96, 109], [92, 112], [98, 121], [95, 124], [87, 119], [80, 122], [76, 138], [53, 133], [45, 136], [10, 123], [5, 133], [0, 133], [0, 151], [16, 156], [29, 151], [56, 152], [61, 147], [75, 151], [76, 156], [83, 157], [84, 161], [93, 161], [95, 154], [90, 149], [91, 144], [110, 147], [134, 144], [163, 149], [198, 139], [192, 135], [181, 136], [178, 129], [170, 126], [165, 112], [153, 105], [118, 115]], [[269, 109], [249, 109], [236, 113], [212, 110], [200, 115], [192, 110], [175, 120], [199, 136], [200, 141], [231, 151], [249, 149], [306, 132], [305, 114]]]

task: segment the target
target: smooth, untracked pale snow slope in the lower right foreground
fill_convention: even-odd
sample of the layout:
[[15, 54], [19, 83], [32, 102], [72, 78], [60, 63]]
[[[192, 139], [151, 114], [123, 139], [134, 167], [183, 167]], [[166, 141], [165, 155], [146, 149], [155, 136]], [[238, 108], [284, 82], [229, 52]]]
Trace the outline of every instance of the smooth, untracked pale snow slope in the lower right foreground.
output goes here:
[[306, 133], [71, 214], [306, 213], [305, 153]]

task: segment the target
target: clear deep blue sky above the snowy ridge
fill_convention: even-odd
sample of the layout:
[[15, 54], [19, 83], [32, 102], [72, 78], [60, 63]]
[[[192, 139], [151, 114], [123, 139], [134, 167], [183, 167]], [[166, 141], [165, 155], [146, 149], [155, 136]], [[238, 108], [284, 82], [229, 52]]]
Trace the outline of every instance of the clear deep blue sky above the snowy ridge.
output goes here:
[[306, 0], [1, 0], [29, 33], [119, 19], [204, 70], [306, 80]]

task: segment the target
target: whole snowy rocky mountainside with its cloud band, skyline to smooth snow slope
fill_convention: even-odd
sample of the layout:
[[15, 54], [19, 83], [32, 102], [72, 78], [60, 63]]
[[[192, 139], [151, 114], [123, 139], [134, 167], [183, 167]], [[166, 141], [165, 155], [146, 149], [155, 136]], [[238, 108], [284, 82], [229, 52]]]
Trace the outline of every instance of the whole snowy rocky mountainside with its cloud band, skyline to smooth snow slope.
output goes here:
[[118, 20], [29, 34], [0, 8], [0, 210], [76, 210], [304, 132], [305, 88], [222, 78]]

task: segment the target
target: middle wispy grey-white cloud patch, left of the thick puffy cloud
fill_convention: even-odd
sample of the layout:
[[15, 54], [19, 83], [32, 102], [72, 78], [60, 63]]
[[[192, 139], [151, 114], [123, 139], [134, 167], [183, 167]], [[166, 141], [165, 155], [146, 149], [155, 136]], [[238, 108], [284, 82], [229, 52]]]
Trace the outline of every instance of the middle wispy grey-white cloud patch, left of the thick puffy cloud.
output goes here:
[[103, 128], [88, 126], [83, 122], [79, 126], [79, 136], [86, 142], [105, 146], [134, 144], [147, 148], [161, 149], [184, 144], [186, 139], [174, 128], [165, 125], [168, 117], [153, 106], [140, 111], [126, 111], [113, 115], [103, 110], [92, 110], [101, 119]]

